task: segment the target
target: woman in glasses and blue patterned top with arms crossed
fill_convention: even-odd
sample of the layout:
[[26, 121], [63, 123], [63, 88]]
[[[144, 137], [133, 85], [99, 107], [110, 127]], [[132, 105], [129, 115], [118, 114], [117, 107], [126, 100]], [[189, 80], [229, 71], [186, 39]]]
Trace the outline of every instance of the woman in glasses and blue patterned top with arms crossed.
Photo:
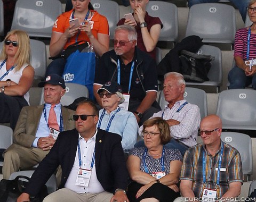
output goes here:
[[168, 123], [154, 117], [143, 124], [144, 147], [133, 148], [127, 168], [133, 180], [127, 189], [132, 201], [173, 201], [180, 196], [179, 175], [182, 155], [164, 145], [171, 140]]

